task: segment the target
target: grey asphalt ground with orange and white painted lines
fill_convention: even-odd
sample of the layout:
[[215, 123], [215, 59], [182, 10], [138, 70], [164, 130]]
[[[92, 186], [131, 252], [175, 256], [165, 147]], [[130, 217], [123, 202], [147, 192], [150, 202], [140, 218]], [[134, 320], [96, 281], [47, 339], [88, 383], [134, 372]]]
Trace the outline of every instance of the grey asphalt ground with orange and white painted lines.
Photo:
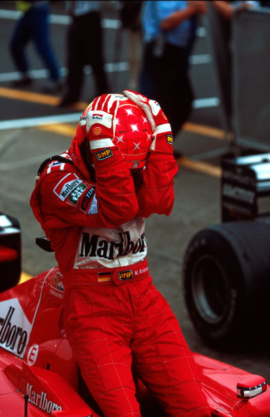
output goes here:
[[[0, 12], [15, 10], [13, 3], [0, 1]], [[117, 19], [116, 10], [106, 4], [110, 2], [103, 3], [104, 19], [111, 24]], [[65, 15], [63, 2], [52, 2], [51, 12], [58, 16]], [[57, 108], [59, 97], [40, 95], [46, 81], [42, 72], [40, 76], [35, 73], [37, 78], [31, 88], [15, 90], [10, 87], [10, 81], [16, 79], [17, 73], [10, 60], [8, 41], [16, 20], [14, 16], [1, 16], [0, 13], [0, 211], [19, 218], [22, 224], [22, 269], [34, 276], [56, 264], [54, 254], [42, 252], [35, 245], [35, 237], [43, 236], [29, 206], [35, 175], [47, 156], [63, 152], [69, 147], [84, 104], [68, 109]], [[51, 24], [51, 38], [61, 67], [65, 67], [66, 29], [65, 24]], [[116, 54], [116, 29], [104, 28], [104, 35], [106, 63], [115, 64], [106, 68], [108, 71], [110, 68], [116, 69], [108, 73], [109, 80], [113, 91], [122, 91], [128, 83], [127, 66], [124, 65], [127, 40], [122, 34], [120, 51]], [[42, 62], [33, 47], [30, 45], [27, 50], [31, 69], [41, 71]], [[208, 52], [205, 38], [199, 37], [194, 56], [207, 56]], [[124, 64], [118, 65], [119, 62]], [[216, 97], [211, 71], [207, 63], [191, 65], [196, 99], [202, 101], [196, 101], [198, 107], [194, 108], [189, 124], [175, 138], [175, 148], [184, 153], [184, 158], [177, 161], [179, 172], [175, 178], [173, 212], [168, 218], [152, 215], [146, 220], [150, 272], [154, 284], [170, 302], [193, 351], [263, 375], [270, 381], [268, 347], [258, 345], [251, 349], [247, 345], [238, 352], [212, 350], [193, 329], [182, 296], [182, 259], [189, 240], [203, 227], [221, 222], [220, 155], [228, 150], [228, 142], [221, 131], [220, 108], [211, 104], [205, 107], [203, 101], [212, 99], [213, 103]], [[93, 79], [88, 75], [81, 100], [87, 103], [93, 92]], [[70, 122], [48, 124], [48, 117], [56, 116], [60, 120], [65, 115], [70, 115]], [[45, 117], [44, 124], [38, 121], [38, 117]]]

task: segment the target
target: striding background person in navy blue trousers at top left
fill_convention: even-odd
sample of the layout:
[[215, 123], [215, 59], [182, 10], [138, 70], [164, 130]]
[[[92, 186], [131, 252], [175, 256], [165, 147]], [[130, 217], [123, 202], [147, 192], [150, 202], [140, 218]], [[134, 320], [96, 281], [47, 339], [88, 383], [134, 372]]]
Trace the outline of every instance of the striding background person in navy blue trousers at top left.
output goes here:
[[60, 73], [54, 49], [49, 38], [49, 2], [48, 1], [16, 1], [17, 10], [22, 12], [10, 40], [10, 54], [15, 67], [20, 72], [20, 79], [13, 81], [13, 87], [24, 87], [33, 83], [29, 76], [29, 62], [25, 48], [33, 41], [35, 49], [49, 70], [49, 83], [44, 92], [58, 93], [61, 91]]

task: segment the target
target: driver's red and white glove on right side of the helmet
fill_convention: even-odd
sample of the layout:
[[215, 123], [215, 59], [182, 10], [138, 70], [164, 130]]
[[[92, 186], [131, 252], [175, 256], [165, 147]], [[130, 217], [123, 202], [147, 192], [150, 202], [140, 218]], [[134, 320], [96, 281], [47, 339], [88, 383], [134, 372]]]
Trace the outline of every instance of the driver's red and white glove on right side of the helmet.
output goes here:
[[140, 107], [150, 123], [153, 140], [150, 150], [173, 155], [173, 133], [168, 118], [157, 101], [148, 99], [138, 92], [125, 90], [124, 95]]

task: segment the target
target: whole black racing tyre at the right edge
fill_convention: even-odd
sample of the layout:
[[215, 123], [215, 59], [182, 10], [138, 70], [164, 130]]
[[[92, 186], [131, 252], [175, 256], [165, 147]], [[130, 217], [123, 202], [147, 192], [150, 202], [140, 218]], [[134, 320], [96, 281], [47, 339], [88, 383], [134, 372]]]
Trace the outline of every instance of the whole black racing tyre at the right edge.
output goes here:
[[184, 254], [186, 308], [202, 339], [233, 347], [269, 318], [270, 225], [228, 222], [199, 231]]

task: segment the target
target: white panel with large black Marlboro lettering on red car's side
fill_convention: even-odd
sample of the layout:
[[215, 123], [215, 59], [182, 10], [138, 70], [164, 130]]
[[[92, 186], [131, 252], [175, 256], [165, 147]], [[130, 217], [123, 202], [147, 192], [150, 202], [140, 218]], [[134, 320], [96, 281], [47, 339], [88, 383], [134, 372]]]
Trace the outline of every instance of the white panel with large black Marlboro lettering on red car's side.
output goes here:
[[24, 357], [32, 325], [17, 298], [0, 302], [0, 346]]

